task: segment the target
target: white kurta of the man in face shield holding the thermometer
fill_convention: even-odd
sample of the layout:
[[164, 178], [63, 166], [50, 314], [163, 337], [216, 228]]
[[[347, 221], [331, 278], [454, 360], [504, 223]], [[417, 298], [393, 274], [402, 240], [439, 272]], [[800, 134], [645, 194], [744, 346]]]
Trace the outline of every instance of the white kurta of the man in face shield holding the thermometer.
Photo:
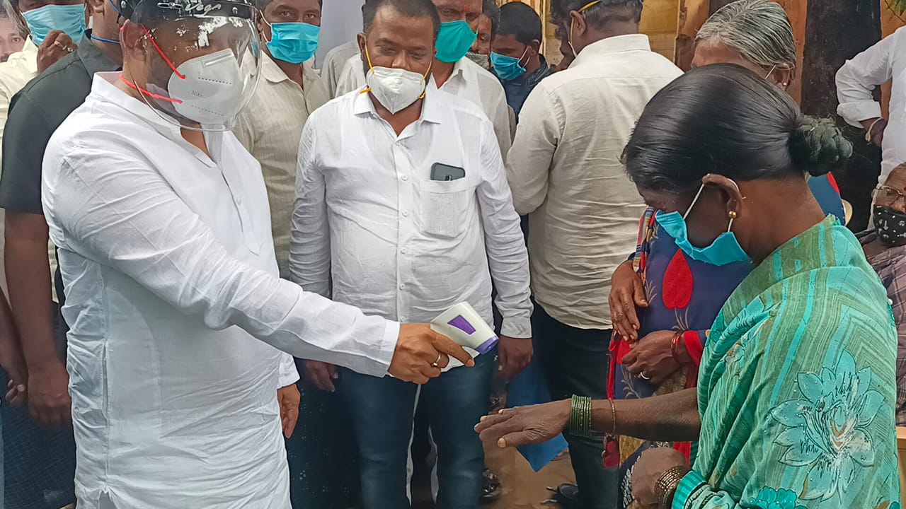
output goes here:
[[279, 279], [255, 159], [232, 133], [208, 158], [119, 77], [95, 75], [43, 163], [80, 506], [288, 509], [273, 347], [381, 376], [399, 325]]

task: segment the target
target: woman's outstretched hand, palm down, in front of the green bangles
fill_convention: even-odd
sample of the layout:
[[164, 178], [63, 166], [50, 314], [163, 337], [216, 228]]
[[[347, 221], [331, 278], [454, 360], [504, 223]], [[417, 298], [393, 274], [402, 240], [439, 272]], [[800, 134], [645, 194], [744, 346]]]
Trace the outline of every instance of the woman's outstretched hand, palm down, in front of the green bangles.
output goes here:
[[532, 407], [506, 408], [481, 418], [475, 430], [483, 441], [496, 441], [498, 447], [543, 444], [563, 432], [571, 409], [569, 399]]

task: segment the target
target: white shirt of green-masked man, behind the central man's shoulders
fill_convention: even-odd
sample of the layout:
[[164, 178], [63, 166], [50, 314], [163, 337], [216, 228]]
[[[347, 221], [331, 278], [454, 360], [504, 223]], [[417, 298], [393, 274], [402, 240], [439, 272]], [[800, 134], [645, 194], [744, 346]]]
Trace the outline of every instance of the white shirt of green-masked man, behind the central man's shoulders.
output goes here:
[[[365, 86], [365, 72], [361, 57], [353, 55], [340, 73], [337, 91], [334, 97], [340, 97], [351, 91], [361, 91]], [[429, 79], [429, 87], [437, 89], [434, 77]], [[494, 125], [497, 145], [506, 159], [506, 153], [513, 144], [510, 131], [509, 106], [506, 104], [506, 92], [500, 80], [494, 74], [482, 69], [480, 65], [463, 57], [453, 64], [453, 73], [440, 86], [440, 90], [472, 101]]]

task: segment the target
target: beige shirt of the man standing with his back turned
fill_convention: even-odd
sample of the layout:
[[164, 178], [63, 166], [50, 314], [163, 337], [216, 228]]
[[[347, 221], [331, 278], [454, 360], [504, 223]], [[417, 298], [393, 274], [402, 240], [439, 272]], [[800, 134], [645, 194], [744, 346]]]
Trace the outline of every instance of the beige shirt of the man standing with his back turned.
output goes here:
[[644, 211], [620, 156], [645, 104], [681, 73], [647, 36], [622, 35], [585, 47], [525, 101], [507, 178], [529, 215], [535, 301], [559, 322], [612, 327], [611, 275]]

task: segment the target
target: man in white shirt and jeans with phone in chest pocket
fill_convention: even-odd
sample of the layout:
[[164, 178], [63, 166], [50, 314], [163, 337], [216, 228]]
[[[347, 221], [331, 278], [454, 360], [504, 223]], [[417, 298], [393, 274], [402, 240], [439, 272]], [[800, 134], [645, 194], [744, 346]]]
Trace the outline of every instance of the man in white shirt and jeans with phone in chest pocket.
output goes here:
[[[335, 301], [388, 319], [430, 320], [466, 301], [488, 323], [491, 283], [503, 315], [501, 368], [531, 349], [528, 260], [491, 123], [470, 101], [427, 85], [439, 18], [429, 0], [366, 6], [360, 48], [368, 91], [314, 112], [299, 149], [290, 270]], [[487, 413], [495, 351], [421, 389], [438, 447], [437, 507], [474, 508], [484, 454], [472, 428]], [[306, 370], [312, 365], [306, 363]], [[367, 509], [408, 507], [414, 386], [325, 370], [347, 401]]]

